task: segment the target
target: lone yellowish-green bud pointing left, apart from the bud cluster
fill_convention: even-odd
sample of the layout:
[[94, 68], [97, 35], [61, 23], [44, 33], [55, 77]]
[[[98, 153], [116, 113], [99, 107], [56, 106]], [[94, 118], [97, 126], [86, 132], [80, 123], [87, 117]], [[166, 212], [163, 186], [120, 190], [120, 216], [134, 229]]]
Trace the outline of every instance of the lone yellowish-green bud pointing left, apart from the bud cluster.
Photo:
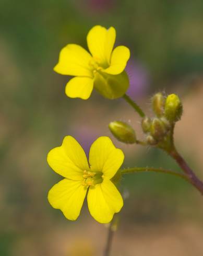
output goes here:
[[136, 143], [135, 131], [129, 124], [121, 121], [114, 121], [109, 124], [109, 129], [118, 141], [127, 144]]

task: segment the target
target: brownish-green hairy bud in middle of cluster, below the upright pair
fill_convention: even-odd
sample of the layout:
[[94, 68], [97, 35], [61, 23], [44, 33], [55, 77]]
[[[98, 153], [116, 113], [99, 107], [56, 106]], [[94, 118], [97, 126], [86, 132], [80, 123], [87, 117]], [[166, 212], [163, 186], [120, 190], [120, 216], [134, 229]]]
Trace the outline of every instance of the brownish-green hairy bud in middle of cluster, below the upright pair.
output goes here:
[[166, 133], [164, 123], [159, 118], [154, 118], [151, 123], [150, 132], [153, 138], [159, 141]]

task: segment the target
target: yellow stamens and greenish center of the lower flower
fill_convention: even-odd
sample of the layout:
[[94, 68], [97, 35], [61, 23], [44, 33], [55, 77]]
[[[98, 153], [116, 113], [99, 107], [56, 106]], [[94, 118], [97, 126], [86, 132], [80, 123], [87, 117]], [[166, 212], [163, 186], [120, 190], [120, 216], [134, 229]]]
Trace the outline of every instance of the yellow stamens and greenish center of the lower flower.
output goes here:
[[103, 181], [103, 173], [101, 171], [93, 172], [84, 170], [82, 177], [84, 178], [82, 185], [85, 187], [94, 186]]

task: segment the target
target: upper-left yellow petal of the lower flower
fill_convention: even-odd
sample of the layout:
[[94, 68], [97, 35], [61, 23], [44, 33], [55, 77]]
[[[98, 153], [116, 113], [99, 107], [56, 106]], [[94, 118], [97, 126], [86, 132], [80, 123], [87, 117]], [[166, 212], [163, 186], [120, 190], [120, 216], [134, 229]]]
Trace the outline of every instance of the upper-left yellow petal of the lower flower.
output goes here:
[[47, 162], [55, 172], [71, 180], [82, 180], [83, 170], [89, 169], [84, 150], [71, 136], [49, 152]]

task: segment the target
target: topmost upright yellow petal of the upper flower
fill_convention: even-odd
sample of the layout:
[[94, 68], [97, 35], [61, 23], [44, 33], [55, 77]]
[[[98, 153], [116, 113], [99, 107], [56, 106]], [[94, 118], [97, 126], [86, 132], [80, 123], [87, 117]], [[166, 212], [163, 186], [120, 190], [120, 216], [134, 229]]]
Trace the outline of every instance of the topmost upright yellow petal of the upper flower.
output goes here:
[[87, 35], [87, 44], [89, 51], [94, 59], [108, 66], [115, 43], [116, 31], [113, 27], [106, 29], [101, 26], [94, 26]]

